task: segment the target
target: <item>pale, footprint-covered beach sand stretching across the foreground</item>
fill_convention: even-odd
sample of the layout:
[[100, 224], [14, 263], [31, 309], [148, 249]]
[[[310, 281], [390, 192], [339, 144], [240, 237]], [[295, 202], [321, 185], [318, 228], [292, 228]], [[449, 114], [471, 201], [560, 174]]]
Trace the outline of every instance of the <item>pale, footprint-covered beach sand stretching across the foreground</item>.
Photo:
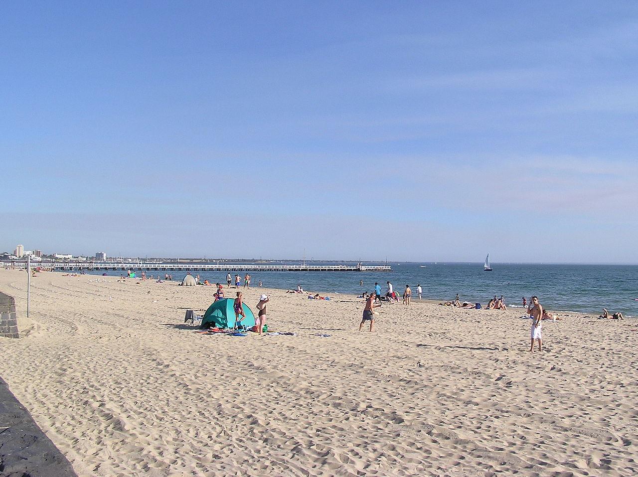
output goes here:
[[41, 273], [27, 321], [0, 270], [25, 335], [0, 375], [80, 476], [638, 473], [635, 321], [544, 321], [531, 354], [522, 309], [384, 304], [359, 333], [352, 296], [253, 288], [297, 336], [202, 335], [212, 287], [137, 282]]

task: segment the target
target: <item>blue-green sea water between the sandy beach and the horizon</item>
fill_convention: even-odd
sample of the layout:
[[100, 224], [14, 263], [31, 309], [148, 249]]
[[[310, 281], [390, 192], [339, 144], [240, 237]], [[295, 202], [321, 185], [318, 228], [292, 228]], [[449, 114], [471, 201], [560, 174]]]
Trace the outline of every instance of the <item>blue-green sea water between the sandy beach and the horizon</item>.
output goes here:
[[[540, 303], [552, 311], [598, 315], [605, 307], [609, 312], [620, 311], [629, 316], [638, 316], [638, 265], [492, 263], [493, 272], [484, 272], [482, 263], [388, 265], [392, 266], [392, 272], [260, 272], [252, 275], [251, 286], [257, 286], [260, 280], [263, 286], [269, 288], [296, 289], [297, 284], [301, 284], [306, 291], [335, 295], [372, 291], [375, 282], [382, 284], [385, 293], [385, 284], [390, 281], [400, 293], [409, 284], [413, 296], [416, 294], [417, 284], [420, 284], [423, 297], [433, 300], [452, 300], [458, 293], [461, 301], [485, 305], [494, 295], [503, 295], [508, 306], [522, 306], [522, 297], [529, 300], [531, 295], [538, 295]], [[122, 272], [91, 272], [96, 275], [103, 273], [119, 276]], [[242, 277], [245, 274], [238, 273]], [[147, 275], [151, 274], [156, 276], [157, 272], [149, 270]], [[185, 274], [186, 272], [172, 272], [173, 279], [180, 281]], [[208, 279], [212, 283], [226, 284], [225, 272], [193, 271], [192, 274], [199, 274], [202, 281]], [[360, 285], [361, 280], [363, 286]]]

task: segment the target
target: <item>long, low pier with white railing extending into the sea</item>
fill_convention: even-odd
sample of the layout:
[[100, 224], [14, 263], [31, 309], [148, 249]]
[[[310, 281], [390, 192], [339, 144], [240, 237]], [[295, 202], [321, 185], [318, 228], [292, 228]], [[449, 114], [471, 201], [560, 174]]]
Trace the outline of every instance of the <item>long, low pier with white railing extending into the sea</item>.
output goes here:
[[[24, 261], [13, 261], [17, 267], [26, 267]], [[6, 263], [6, 265], [9, 265]], [[53, 268], [54, 270], [157, 270], [159, 272], [392, 272], [389, 265], [255, 265], [226, 263], [128, 263], [128, 262], [82, 262], [65, 261], [54, 263], [31, 263], [31, 267]]]

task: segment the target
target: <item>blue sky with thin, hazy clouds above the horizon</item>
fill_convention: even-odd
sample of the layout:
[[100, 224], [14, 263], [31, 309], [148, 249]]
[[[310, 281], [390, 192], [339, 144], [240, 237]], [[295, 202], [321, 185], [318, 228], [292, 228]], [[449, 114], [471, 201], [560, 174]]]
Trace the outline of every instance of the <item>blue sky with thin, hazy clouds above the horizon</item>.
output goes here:
[[638, 263], [638, 3], [6, 3], [0, 251]]

